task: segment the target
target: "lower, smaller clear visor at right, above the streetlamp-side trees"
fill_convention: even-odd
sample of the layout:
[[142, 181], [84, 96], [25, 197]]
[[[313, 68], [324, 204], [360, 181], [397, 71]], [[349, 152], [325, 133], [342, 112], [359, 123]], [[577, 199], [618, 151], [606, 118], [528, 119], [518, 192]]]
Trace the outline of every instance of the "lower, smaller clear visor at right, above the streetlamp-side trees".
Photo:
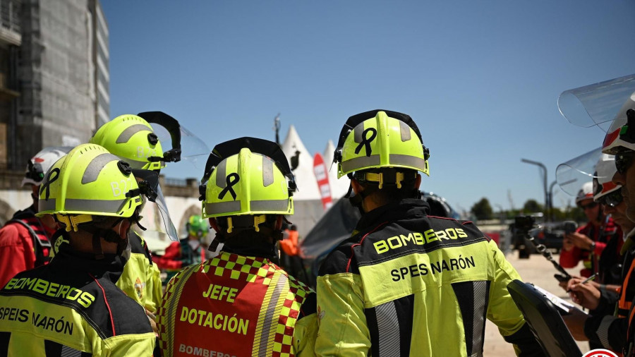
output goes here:
[[[595, 174], [595, 165], [602, 156], [601, 148], [591, 150], [586, 154], [570, 159], [558, 165], [556, 169], [556, 182], [564, 192], [576, 196], [580, 186], [593, 178], [599, 178]], [[610, 181], [610, 178], [609, 178]]]

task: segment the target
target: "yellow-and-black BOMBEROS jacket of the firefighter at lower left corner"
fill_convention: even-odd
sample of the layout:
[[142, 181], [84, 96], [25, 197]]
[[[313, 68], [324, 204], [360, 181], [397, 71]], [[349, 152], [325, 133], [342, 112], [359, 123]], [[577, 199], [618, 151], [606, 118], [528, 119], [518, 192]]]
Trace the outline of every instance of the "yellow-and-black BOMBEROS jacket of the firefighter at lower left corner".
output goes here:
[[0, 356], [152, 356], [145, 310], [115, 286], [121, 257], [59, 251], [0, 290]]

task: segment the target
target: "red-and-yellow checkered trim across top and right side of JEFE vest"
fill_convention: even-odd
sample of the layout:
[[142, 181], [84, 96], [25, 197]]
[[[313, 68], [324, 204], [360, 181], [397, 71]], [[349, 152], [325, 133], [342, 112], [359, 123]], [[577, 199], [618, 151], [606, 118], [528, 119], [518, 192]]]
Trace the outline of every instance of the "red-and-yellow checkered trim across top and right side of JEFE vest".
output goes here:
[[[310, 289], [270, 260], [223, 252], [201, 271], [267, 286], [260, 305], [252, 356], [294, 356], [294, 327]], [[166, 293], [167, 294], [167, 293]], [[264, 340], [263, 340], [264, 339]]]

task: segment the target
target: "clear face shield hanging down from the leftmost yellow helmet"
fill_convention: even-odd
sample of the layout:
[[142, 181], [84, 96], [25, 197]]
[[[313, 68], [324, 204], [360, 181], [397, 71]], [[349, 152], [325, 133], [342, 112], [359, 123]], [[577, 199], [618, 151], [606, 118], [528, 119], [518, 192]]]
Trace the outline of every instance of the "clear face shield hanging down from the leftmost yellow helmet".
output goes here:
[[[133, 229], [139, 236], [155, 238], [159, 241], [179, 241], [176, 228], [172, 224], [165, 197], [159, 186], [159, 174], [155, 171], [133, 169], [141, 190], [143, 204], [140, 206], [139, 224]], [[147, 202], [154, 204], [146, 205]], [[143, 230], [141, 227], [145, 228]]]

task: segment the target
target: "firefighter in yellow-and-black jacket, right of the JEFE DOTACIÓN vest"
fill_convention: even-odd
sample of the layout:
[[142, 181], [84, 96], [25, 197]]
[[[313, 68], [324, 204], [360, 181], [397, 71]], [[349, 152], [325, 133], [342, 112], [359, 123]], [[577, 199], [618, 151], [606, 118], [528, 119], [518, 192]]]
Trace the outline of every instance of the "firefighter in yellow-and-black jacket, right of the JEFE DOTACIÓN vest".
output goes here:
[[362, 217], [317, 277], [318, 356], [479, 356], [485, 318], [520, 356], [542, 351], [507, 291], [520, 279], [472, 222], [428, 216], [429, 151], [406, 114], [351, 116], [334, 153]]

